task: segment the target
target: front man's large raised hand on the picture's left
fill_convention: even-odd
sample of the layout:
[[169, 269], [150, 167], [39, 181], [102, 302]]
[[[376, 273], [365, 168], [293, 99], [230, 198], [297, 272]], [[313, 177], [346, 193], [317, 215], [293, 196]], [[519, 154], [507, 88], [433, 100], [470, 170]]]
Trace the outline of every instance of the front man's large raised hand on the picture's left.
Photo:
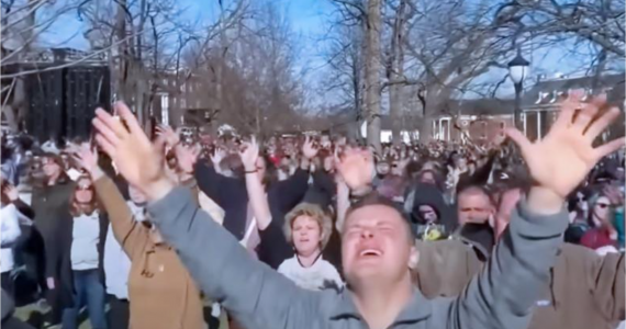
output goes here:
[[114, 106], [121, 117], [113, 117], [102, 109], [96, 110], [93, 126], [98, 132], [98, 145], [128, 183], [149, 200], [164, 197], [174, 188], [165, 173], [165, 139], [159, 137], [153, 145], [131, 110], [122, 102]]

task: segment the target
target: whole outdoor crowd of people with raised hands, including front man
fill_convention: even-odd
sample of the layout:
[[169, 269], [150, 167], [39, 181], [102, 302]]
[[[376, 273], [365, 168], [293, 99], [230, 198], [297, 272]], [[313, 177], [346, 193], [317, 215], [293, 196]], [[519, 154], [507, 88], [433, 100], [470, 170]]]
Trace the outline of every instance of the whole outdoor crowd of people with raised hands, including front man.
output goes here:
[[[0, 140], [0, 328], [617, 328], [619, 114], [572, 94], [541, 140], [147, 136]], [[625, 286], [622, 286], [623, 283]], [[624, 292], [624, 294], [623, 294]]]

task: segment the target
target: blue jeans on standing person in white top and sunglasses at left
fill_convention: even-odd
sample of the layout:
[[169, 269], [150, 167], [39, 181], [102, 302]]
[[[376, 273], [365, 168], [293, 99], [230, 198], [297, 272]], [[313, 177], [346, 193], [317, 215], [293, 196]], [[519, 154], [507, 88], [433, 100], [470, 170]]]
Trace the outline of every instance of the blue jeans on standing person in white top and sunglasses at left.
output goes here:
[[104, 285], [98, 270], [74, 271], [74, 307], [63, 310], [63, 329], [78, 329], [78, 313], [87, 306], [93, 329], [107, 329]]

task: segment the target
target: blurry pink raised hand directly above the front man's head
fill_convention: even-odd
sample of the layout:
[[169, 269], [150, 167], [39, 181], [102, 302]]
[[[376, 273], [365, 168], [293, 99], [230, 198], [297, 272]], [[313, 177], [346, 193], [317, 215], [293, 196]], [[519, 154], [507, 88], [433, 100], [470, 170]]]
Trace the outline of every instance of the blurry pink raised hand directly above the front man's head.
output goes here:
[[373, 180], [373, 155], [369, 150], [346, 148], [335, 158], [337, 172], [353, 191], [367, 190]]

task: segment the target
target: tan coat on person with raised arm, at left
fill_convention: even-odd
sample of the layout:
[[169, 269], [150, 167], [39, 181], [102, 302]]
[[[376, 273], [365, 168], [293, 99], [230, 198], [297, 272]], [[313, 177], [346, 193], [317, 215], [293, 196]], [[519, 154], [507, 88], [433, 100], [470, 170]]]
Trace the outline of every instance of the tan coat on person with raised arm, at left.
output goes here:
[[109, 213], [113, 232], [132, 266], [128, 277], [132, 329], [203, 329], [198, 286], [178, 254], [167, 245], [155, 245], [149, 230], [133, 220], [122, 194], [109, 178], [96, 182]]

